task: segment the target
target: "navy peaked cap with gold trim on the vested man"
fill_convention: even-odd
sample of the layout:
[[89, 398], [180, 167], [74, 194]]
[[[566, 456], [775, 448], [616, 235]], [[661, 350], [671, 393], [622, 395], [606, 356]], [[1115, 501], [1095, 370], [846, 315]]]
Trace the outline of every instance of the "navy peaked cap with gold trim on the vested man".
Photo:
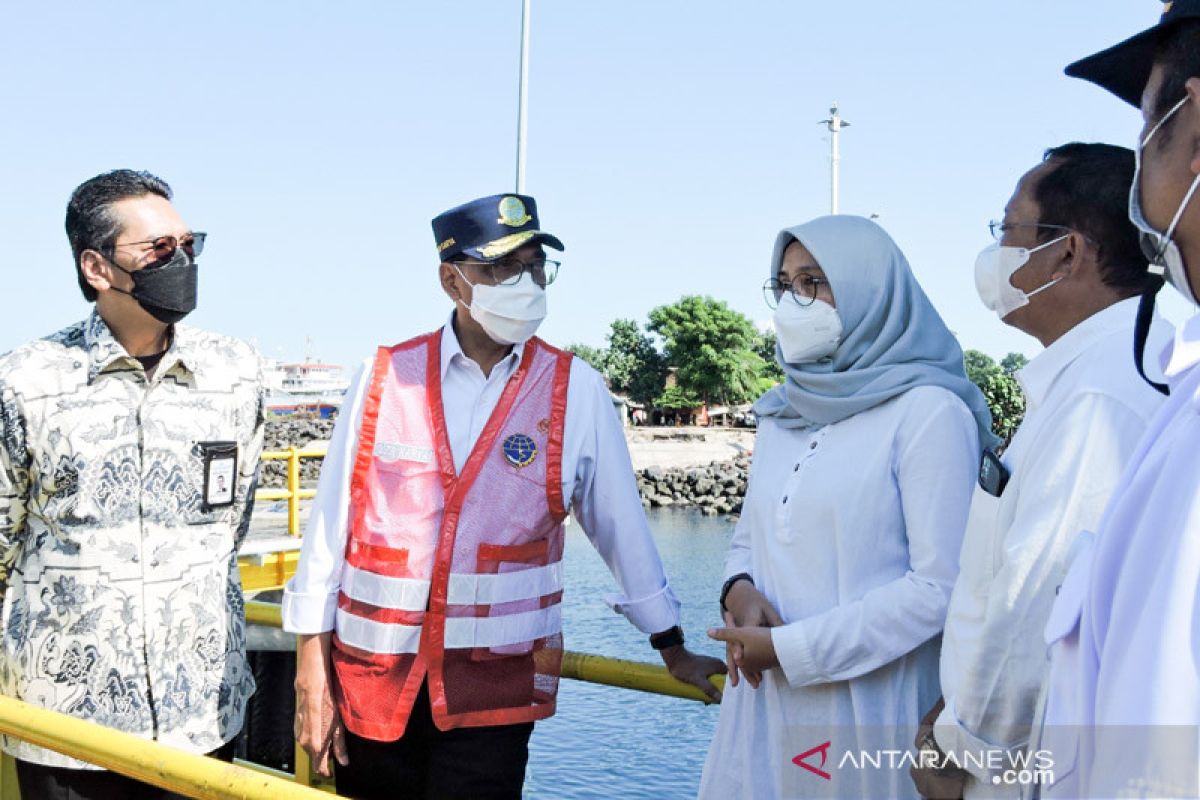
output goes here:
[[526, 194], [493, 194], [443, 211], [433, 217], [433, 241], [443, 261], [463, 254], [494, 261], [529, 242], [563, 249], [557, 236], [541, 230], [538, 203]]

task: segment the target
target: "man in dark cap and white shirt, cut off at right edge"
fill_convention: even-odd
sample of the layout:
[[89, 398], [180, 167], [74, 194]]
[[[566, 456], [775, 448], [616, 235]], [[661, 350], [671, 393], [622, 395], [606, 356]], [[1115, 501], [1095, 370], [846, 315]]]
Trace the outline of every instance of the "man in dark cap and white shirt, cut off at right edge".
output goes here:
[[[1129, 217], [1151, 271], [1195, 302], [1200, 0], [1164, 4], [1157, 25], [1067, 73], [1141, 106]], [[1162, 363], [1170, 397], [1099, 530], [1076, 543], [1045, 627], [1051, 667], [1033, 738], [1057, 780], [1043, 796], [1200, 794], [1200, 317], [1177, 329]]]

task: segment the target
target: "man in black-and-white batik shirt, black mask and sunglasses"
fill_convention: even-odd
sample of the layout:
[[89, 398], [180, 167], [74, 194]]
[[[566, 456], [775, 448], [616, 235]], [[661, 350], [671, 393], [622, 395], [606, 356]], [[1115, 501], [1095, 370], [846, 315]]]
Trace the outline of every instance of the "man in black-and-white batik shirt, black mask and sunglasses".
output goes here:
[[[260, 362], [176, 324], [204, 234], [166, 182], [98, 175], [66, 229], [95, 309], [0, 356], [0, 692], [229, 758], [254, 690], [236, 552]], [[25, 798], [163, 796], [19, 739], [4, 750]]]

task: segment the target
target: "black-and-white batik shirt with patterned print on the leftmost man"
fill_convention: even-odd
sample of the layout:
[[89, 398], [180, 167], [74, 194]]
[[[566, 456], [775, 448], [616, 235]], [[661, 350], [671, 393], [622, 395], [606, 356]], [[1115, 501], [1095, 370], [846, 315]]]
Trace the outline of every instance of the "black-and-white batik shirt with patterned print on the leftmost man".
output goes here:
[[[191, 752], [241, 729], [263, 414], [254, 350], [181, 325], [149, 381], [95, 313], [0, 356], [0, 692]], [[204, 503], [205, 441], [238, 443], [232, 506]]]

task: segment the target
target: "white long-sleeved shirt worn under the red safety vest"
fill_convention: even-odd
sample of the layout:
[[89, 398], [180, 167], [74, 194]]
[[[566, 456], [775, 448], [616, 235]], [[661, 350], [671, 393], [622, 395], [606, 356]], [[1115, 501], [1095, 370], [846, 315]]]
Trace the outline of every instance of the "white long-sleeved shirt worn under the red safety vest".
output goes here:
[[[521, 362], [523, 345], [490, 375], [468, 359], [454, 326], [442, 329], [442, 402], [455, 469], [462, 469]], [[283, 627], [293, 633], [334, 628], [349, 519], [350, 475], [373, 359], [346, 395], [320, 471], [295, 577], [283, 593]], [[563, 433], [563, 497], [620, 587], [606, 602], [646, 633], [679, 624], [679, 602], [667, 584], [637, 493], [625, 434], [604, 378], [582, 359], [571, 361]], [[480, 487], [482, 488], [482, 487]]]

